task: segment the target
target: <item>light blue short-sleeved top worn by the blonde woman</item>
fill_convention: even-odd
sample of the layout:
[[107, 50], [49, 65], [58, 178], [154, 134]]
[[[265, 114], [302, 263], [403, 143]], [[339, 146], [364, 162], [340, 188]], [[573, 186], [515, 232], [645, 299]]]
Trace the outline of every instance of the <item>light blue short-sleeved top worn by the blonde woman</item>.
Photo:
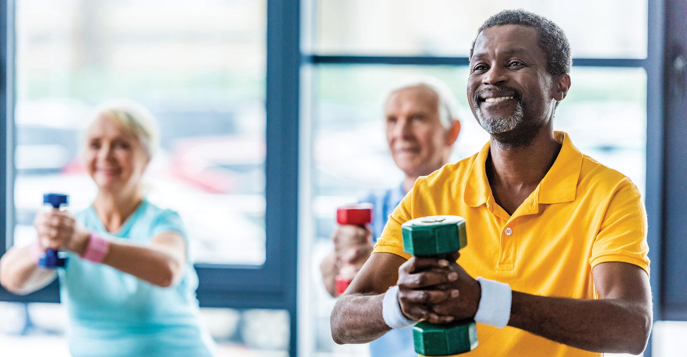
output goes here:
[[[93, 207], [76, 215], [89, 231], [147, 244], [164, 232], [186, 234], [179, 214], [143, 200], [117, 233], [107, 233]], [[187, 242], [188, 244], [188, 242]], [[188, 252], [188, 245], [186, 251]], [[198, 276], [188, 259], [179, 284], [154, 286], [120, 270], [69, 253], [59, 269], [60, 297], [69, 314], [74, 357], [212, 357], [214, 343], [201, 327]]]

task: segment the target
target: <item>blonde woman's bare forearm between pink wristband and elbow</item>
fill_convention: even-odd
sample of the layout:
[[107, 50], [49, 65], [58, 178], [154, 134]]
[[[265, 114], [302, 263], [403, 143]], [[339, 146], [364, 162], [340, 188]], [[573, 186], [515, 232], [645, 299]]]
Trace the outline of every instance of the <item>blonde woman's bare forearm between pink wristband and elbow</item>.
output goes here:
[[184, 258], [166, 246], [141, 246], [112, 240], [102, 264], [131, 274], [150, 284], [168, 287], [181, 280]]

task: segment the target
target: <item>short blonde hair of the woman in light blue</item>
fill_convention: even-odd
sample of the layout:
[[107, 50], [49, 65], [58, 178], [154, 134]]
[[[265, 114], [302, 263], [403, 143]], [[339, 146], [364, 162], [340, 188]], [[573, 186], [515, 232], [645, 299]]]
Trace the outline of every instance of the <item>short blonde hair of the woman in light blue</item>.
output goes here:
[[109, 100], [95, 108], [91, 122], [102, 116], [117, 121], [133, 133], [146, 150], [148, 157], [153, 157], [159, 146], [159, 127], [155, 116], [148, 108], [129, 99]]

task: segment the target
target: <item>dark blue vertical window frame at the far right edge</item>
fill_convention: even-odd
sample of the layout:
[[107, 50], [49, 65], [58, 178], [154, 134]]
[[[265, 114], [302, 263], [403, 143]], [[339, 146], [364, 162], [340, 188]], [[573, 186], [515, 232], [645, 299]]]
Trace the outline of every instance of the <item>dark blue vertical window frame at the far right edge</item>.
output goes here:
[[[662, 101], [656, 105], [663, 110], [664, 116], [657, 138], [655, 159], [657, 165], [655, 184], [662, 189], [662, 199], [654, 220], [656, 234], [662, 239], [654, 242], [661, 264], [657, 268], [654, 288], [660, 292], [655, 303], [660, 305], [660, 318], [664, 320], [687, 321], [687, 3], [685, 1], [666, 1], [665, 14], [660, 23], [664, 37], [657, 37], [657, 46], [662, 45], [662, 56], [656, 58], [656, 80], [663, 82], [662, 92], [657, 92]], [[658, 10], [657, 10], [658, 11]], [[658, 128], [657, 128], [658, 129]], [[660, 181], [659, 181], [660, 180]]]

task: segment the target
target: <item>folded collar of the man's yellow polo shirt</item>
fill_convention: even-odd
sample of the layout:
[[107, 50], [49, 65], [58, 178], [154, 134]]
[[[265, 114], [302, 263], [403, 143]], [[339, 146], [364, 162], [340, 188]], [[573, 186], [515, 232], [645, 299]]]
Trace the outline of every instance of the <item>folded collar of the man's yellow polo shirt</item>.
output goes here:
[[[554, 131], [554, 139], [562, 143], [561, 151], [539, 186], [534, 189], [535, 205], [537, 203], [563, 203], [575, 200], [583, 155], [572, 144], [567, 133]], [[482, 150], [477, 153], [477, 157], [469, 168], [463, 200], [466, 205], [471, 207], [478, 207], [487, 203], [492, 196], [485, 168], [490, 148], [491, 143], [487, 142]]]

